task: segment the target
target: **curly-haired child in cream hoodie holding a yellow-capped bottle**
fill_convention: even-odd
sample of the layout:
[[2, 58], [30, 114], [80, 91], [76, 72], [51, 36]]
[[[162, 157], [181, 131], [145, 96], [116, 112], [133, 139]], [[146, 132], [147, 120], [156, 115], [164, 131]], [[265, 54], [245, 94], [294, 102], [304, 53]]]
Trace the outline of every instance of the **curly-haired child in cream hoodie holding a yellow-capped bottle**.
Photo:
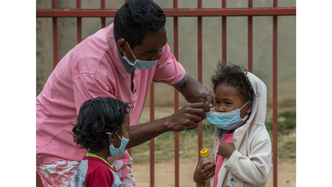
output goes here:
[[272, 167], [265, 84], [235, 64], [219, 63], [211, 80], [215, 112], [207, 112], [207, 121], [215, 125], [216, 164], [199, 161], [194, 181], [197, 186], [265, 187]]

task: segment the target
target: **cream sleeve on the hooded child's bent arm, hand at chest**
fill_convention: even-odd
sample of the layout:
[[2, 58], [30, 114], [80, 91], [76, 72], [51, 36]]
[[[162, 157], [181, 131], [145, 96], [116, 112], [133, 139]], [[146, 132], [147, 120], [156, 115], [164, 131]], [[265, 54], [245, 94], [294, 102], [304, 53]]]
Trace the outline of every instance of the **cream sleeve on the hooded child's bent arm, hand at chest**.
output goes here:
[[235, 150], [224, 167], [243, 182], [265, 186], [272, 167], [271, 140], [264, 140], [253, 146], [249, 156]]

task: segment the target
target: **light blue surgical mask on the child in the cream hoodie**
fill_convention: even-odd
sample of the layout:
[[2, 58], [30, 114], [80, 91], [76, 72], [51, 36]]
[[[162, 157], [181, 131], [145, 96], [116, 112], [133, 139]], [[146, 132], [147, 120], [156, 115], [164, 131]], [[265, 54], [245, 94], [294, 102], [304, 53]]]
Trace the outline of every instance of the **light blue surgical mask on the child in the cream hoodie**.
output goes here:
[[[248, 103], [249, 101], [245, 105], [243, 105], [243, 107], [246, 106]], [[242, 125], [243, 122], [248, 118], [248, 114], [242, 119], [240, 117], [240, 110], [243, 107], [230, 112], [206, 112], [207, 121], [220, 129], [236, 129], [240, 125]]]

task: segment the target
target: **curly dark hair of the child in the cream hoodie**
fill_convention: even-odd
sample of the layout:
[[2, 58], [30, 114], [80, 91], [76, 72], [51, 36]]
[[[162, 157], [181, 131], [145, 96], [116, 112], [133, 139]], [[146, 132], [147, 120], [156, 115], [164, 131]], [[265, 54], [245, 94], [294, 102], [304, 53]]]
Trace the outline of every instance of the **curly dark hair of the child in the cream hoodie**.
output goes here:
[[242, 65], [235, 65], [228, 63], [223, 65], [221, 61], [218, 62], [215, 75], [212, 76], [212, 89], [215, 92], [220, 84], [232, 86], [238, 90], [243, 101], [252, 101], [254, 99], [254, 90], [246, 76], [248, 71], [243, 69]]

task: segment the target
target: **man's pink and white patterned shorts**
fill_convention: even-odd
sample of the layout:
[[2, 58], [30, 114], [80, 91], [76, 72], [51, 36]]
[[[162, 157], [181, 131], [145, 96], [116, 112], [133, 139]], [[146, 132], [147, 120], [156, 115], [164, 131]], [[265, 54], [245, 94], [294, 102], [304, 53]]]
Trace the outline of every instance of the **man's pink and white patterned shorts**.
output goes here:
[[[124, 156], [112, 163], [118, 171], [123, 186], [136, 187], [131, 169], [131, 156], [125, 153]], [[78, 161], [61, 160], [50, 164], [38, 164], [36, 169], [44, 187], [75, 187], [73, 179], [79, 164]]]

